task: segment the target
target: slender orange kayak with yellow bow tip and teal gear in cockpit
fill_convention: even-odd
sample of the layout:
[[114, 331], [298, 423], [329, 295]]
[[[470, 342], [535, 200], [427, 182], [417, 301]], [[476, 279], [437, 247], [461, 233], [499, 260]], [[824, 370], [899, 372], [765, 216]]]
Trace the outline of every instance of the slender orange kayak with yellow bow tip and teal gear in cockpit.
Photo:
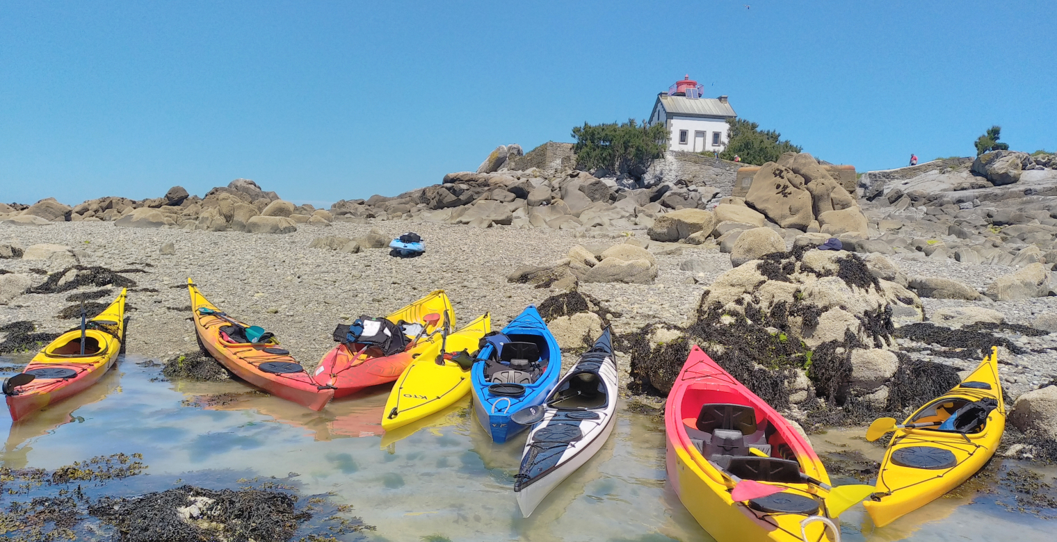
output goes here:
[[235, 325], [233, 321], [243, 329], [247, 326], [227, 317], [210, 303], [191, 279], [187, 279], [187, 291], [191, 296], [191, 312], [199, 340], [209, 355], [228, 371], [272, 395], [312, 410], [322, 410], [334, 397], [334, 388], [317, 385], [289, 351], [279, 348], [279, 341], [274, 337], [264, 342], [230, 341], [224, 328]]

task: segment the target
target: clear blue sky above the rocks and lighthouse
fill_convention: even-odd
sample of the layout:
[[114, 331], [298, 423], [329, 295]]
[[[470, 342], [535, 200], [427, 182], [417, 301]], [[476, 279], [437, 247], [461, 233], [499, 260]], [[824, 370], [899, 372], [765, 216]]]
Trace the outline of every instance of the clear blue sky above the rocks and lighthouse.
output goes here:
[[1054, 29], [1052, 0], [5, 0], [0, 201], [393, 195], [644, 118], [684, 74], [859, 170], [969, 155], [993, 124], [1053, 151]]

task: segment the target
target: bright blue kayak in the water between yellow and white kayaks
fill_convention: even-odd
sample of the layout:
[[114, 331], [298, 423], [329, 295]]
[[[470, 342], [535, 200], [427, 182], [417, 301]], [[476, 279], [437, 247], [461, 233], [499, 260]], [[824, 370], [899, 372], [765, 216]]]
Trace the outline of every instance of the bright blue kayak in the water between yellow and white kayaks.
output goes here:
[[470, 370], [474, 409], [492, 440], [505, 443], [526, 428], [511, 414], [542, 405], [557, 386], [561, 349], [533, 305], [483, 341]]

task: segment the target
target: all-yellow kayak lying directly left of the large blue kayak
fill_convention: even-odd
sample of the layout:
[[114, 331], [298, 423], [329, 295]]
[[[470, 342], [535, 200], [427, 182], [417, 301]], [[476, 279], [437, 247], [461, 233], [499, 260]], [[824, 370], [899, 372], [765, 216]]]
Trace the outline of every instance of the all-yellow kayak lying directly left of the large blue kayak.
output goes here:
[[[455, 353], [466, 350], [472, 355], [478, 351], [481, 338], [490, 331], [492, 317], [485, 313], [469, 325], [448, 335], [444, 351]], [[441, 342], [433, 341], [396, 379], [382, 411], [382, 428], [386, 431], [444, 410], [469, 393], [469, 368], [464, 369], [450, 359], [438, 365]]]

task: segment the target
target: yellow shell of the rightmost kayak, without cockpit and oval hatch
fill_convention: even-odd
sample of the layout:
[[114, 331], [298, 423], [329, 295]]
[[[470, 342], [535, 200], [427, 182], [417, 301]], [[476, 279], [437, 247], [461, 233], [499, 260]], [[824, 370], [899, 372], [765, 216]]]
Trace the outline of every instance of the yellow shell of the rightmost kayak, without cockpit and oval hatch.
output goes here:
[[[962, 434], [925, 428], [896, 429], [892, 433], [892, 442], [880, 464], [876, 492], [863, 503], [875, 526], [888, 525], [903, 515], [958, 487], [995, 454], [1002, 432], [1005, 430], [1006, 415], [1005, 404], [1002, 401], [1002, 385], [998, 376], [997, 349], [993, 349], [990, 356], [962, 380], [962, 382], [967, 381], [985, 382], [990, 385], [990, 389], [963, 388], [959, 384], [941, 397], [917, 409], [904, 424], [911, 420], [931, 422], [932, 418], [914, 418], [925, 409], [949, 399], [980, 400], [990, 397], [998, 401], [998, 408], [988, 414], [983, 430], [978, 433]], [[954, 454], [957, 463], [950, 468], [933, 470], [904, 467], [891, 462], [893, 452], [910, 446], [930, 446], [949, 450]]]

